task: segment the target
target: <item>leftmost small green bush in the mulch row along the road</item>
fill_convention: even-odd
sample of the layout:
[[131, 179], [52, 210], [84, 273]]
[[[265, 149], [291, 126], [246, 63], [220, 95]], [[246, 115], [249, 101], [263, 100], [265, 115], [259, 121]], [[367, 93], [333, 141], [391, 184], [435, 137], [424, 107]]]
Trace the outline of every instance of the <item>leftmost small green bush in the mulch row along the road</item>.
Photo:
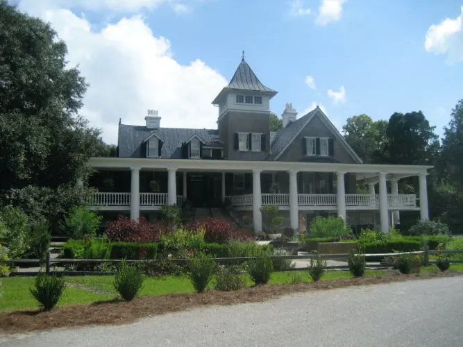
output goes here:
[[35, 288], [31, 288], [33, 297], [42, 304], [45, 311], [56, 306], [65, 290], [66, 282], [62, 276], [39, 273], [35, 278]]

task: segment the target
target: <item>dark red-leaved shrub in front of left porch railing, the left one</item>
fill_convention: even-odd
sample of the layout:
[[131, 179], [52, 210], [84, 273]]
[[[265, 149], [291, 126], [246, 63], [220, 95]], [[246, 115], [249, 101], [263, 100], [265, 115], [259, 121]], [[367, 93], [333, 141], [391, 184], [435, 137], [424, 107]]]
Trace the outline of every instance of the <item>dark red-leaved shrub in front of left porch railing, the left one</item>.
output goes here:
[[162, 234], [170, 232], [165, 226], [149, 223], [144, 217], [132, 221], [119, 215], [106, 226], [106, 236], [112, 242], [158, 242]]

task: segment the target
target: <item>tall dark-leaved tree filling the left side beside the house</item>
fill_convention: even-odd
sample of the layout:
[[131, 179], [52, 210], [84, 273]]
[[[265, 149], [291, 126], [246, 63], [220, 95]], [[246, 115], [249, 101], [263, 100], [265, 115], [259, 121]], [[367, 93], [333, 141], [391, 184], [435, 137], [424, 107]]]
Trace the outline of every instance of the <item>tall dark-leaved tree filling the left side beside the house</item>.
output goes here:
[[106, 151], [78, 115], [87, 84], [66, 55], [49, 24], [0, 0], [0, 196], [26, 212], [81, 201], [76, 180], [90, 171], [88, 158]]

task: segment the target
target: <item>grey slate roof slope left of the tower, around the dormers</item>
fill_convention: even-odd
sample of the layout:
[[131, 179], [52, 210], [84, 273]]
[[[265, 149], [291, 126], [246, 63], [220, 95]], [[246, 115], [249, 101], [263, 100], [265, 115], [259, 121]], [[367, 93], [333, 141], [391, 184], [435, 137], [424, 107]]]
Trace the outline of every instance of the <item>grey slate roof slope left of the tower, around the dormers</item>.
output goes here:
[[146, 126], [119, 125], [119, 157], [143, 158], [145, 157], [142, 142], [152, 134], [163, 140], [162, 158], [181, 159], [182, 143], [190, 139], [194, 134], [204, 139], [208, 146], [224, 146], [219, 140], [217, 129], [183, 129], [183, 128], [159, 128], [146, 129]]

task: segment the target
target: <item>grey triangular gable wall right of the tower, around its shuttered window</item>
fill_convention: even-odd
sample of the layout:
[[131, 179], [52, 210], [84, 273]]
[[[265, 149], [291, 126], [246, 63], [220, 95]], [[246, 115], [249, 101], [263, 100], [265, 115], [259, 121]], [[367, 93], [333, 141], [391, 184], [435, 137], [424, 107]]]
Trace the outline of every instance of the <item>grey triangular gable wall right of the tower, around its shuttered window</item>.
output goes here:
[[[328, 137], [332, 139], [333, 155], [328, 157], [308, 157], [305, 153], [305, 137]], [[310, 119], [307, 119], [307, 123], [298, 129], [298, 133], [294, 134], [292, 141], [276, 156], [275, 160], [288, 162], [342, 162], [346, 164], [362, 162], [321, 110], [314, 112]]]

